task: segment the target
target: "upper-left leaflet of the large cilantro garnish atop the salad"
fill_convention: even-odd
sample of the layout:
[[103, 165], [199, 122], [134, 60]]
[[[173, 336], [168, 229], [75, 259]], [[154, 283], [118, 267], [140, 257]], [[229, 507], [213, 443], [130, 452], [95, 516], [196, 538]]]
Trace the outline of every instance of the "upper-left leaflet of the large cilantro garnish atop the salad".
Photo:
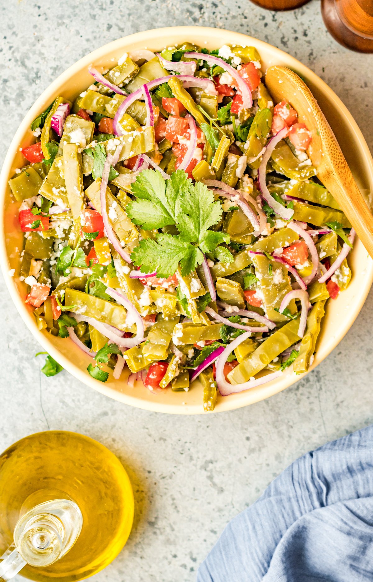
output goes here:
[[173, 172], [167, 184], [159, 172], [144, 170], [131, 184], [137, 200], [127, 205], [128, 217], [145, 230], [176, 224], [178, 200], [191, 183], [192, 180], [183, 170]]

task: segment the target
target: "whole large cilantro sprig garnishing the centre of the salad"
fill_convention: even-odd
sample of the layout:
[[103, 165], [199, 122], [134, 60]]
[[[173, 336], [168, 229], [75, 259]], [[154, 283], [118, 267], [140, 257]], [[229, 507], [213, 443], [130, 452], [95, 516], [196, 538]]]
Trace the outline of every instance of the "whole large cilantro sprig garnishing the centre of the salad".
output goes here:
[[159, 277], [168, 277], [180, 263], [181, 275], [188, 275], [202, 263], [203, 253], [229, 243], [229, 235], [210, 230], [223, 213], [220, 202], [202, 182], [193, 185], [184, 170], [173, 172], [167, 183], [159, 172], [144, 170], [131, 189], [137, 199], [126, 210], [135, 225], [145, 230], [170, 225], [178, 229], [178, 235], [159, 233], [155, 240], [143, 239], [132, 251], [132, 262], [144, 273], [157, 271]]

